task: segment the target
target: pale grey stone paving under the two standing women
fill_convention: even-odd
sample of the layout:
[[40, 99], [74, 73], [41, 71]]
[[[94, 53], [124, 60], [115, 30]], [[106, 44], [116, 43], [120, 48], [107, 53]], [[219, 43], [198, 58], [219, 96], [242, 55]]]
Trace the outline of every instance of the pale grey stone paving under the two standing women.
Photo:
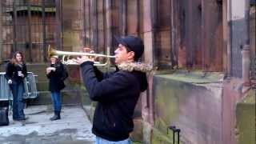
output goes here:
[[53, 115], [47, 106], [25, 109], [26, 122], [13, 121], [0, 126], [1, 144], [93, 144], [94, 134], [86, 113], [79, 106], [62, 108], [62, 119], [50, 121]]

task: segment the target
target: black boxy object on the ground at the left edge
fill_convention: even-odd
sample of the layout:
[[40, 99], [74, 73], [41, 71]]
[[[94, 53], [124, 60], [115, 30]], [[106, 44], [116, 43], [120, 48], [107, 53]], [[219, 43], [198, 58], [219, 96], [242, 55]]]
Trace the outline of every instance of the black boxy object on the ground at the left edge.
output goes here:
[[8, 126], [9, 125], [9, 118], [8, 118], [9, 102], [3, 102], [3, 103], [0, 102], [0, 126]]

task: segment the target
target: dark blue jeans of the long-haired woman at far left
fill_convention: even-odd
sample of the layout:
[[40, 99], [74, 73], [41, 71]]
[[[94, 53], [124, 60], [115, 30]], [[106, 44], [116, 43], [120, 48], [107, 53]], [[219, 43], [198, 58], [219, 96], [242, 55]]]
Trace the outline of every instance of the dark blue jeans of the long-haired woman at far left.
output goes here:
[[13, 94], [13, 119], [20, 120], [25, 118], [24, 114], [24, 101], [23, 94], [25, 92], [23, 82], [16, 83], [10, 85], [10, 90]]

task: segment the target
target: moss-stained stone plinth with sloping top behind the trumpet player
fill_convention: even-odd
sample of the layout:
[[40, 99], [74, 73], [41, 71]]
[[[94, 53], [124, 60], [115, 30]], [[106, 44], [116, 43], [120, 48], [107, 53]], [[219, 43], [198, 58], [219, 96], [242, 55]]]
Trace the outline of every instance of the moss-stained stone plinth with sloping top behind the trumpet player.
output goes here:
[[222, 74], [159, 74], [153, 90], [152, 143], [172, 143], [169, 126], [181, 130], [182, 143], [222, 143]]

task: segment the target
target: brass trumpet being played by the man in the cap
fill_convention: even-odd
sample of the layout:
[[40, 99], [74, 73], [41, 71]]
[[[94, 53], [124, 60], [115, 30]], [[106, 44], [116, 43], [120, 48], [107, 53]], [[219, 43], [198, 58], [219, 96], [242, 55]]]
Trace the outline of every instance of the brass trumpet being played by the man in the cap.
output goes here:
[[[108, 53], [110, 49], [107, 49]], [[48, 57], [51, 55], [58, 55], [62, 56], [61, 60], [62, 63], [65, 65], [78, 65], [78, 63], [74, 62], [74, 60], [70, 59], [70, 56], [88, 56], [88, 57], [94, 57], [94, 58], [106, 58], [106, 62], [94, 62], [94, 66], [107, 66], [110, 64], [110, 58], [115, 58], [114, 55], [109, 54], [94, 54], [94, 53], [86, 53], [86, 52], [72, 52], [72, 51], [61, 51], [61, 50], [55, 50], [48, 46]]]

